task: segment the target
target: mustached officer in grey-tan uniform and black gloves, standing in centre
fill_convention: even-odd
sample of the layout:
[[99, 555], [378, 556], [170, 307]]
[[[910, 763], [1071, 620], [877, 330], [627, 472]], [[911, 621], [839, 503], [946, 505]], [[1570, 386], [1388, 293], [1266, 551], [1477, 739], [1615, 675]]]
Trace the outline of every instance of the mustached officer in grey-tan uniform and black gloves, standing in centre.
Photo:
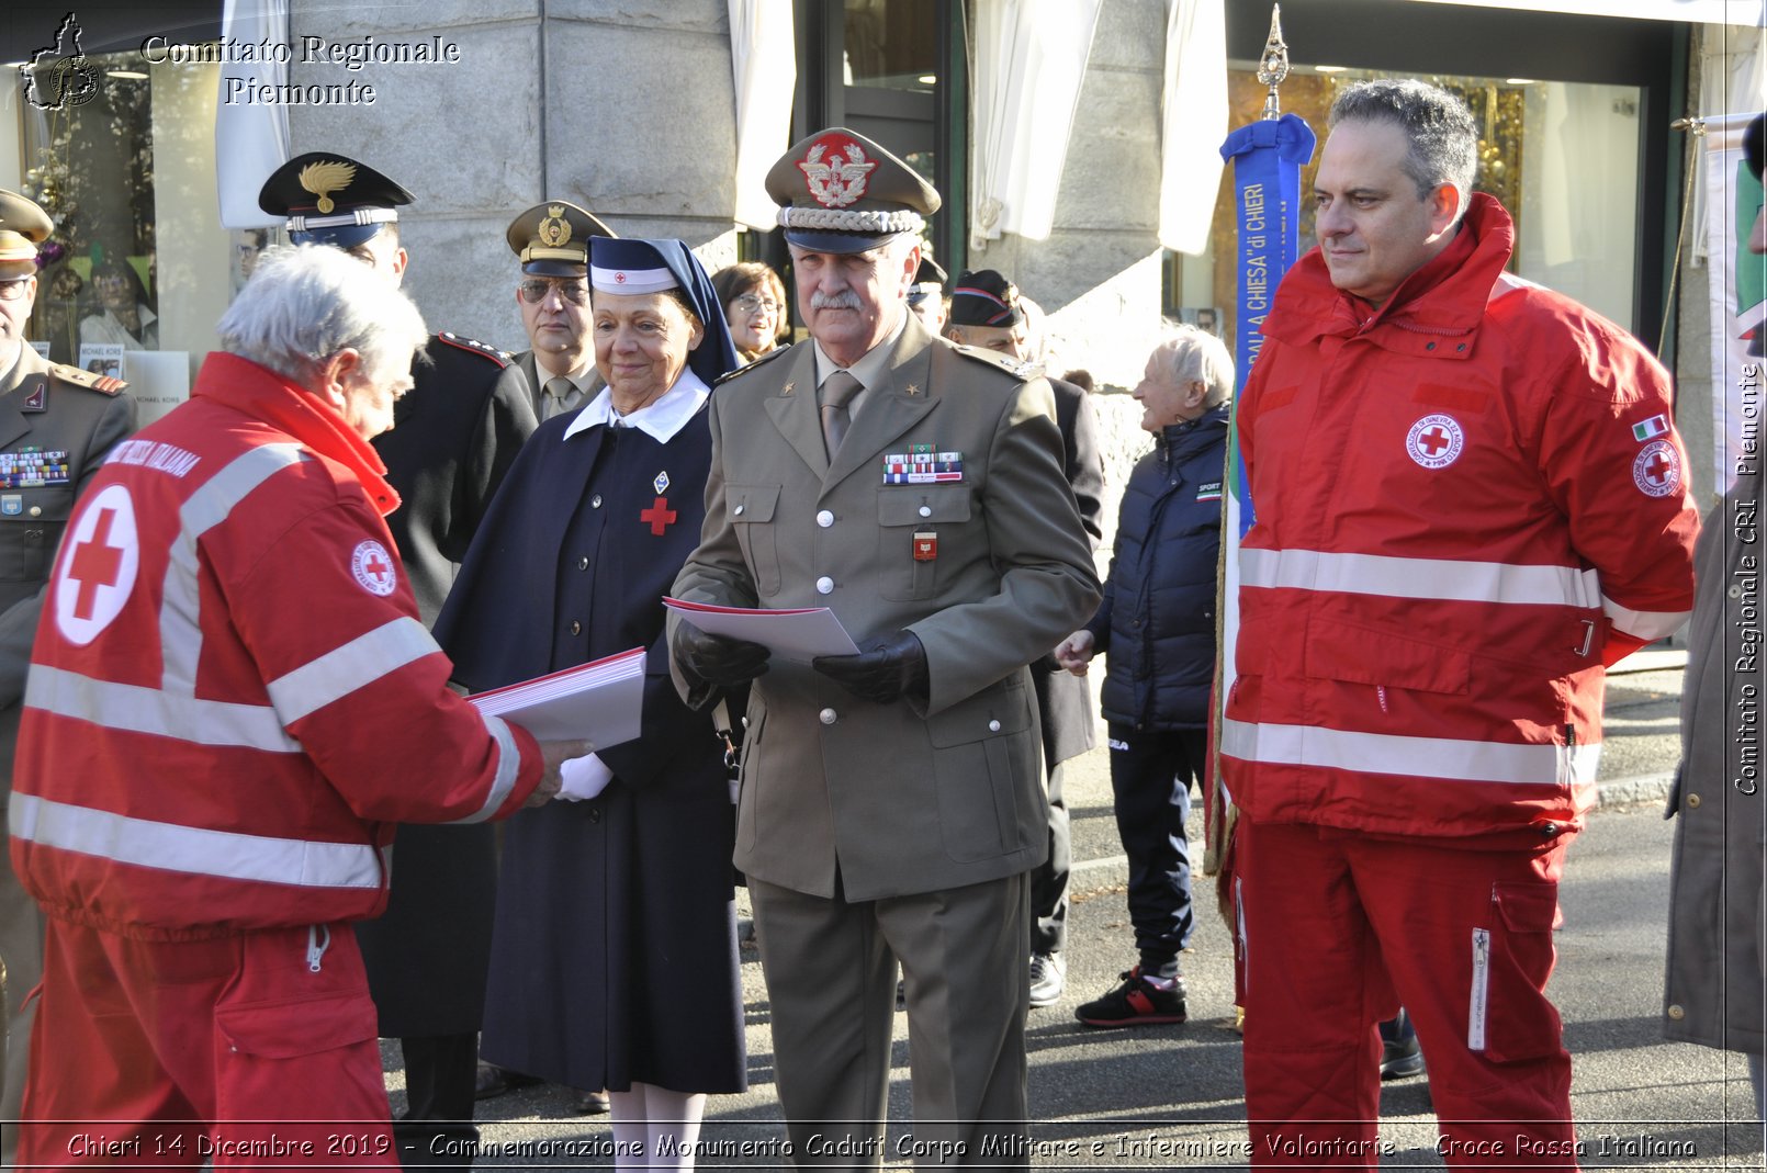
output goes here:
[[[938, 193], [846, 129], [767, 177], [809, 341], [712, 394], [675, 595], [827, 606], [815, 664], [671, 629], [677, 687], [755, 680], [737, 809], [795, 1159], [884, 1157], [896, 963], [915, 1164], [1025, 1164], [1028, 882], [1046, 850], [1027, 664], [1099, 599], [1050, 385], [908, 313]], [[891, 1154], [892, 1159], [896, 1154]]]

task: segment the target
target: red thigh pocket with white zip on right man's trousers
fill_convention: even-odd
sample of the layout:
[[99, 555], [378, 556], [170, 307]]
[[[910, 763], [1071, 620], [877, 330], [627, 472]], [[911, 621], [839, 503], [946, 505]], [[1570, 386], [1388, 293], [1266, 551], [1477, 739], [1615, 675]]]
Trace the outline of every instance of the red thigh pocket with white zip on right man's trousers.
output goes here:
[[1493, 883], [1488, 927], [1472, 931], [1472, 1002], [1467, 1048], [1497, 1062], [1553, 1055], [1562, 1048], [1558, 1010], [1546, 1000], [1557, 883]]

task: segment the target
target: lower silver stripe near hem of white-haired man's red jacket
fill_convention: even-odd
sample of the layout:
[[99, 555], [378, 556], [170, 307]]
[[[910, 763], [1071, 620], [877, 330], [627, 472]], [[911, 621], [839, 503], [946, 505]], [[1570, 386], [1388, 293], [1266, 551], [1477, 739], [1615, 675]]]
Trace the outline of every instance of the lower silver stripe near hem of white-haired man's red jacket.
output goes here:
[[19, 839], [118, 864], [307, 889], [378, 889], [382, 883], [380, 853], [366, 843], [180, 827], [19, 793], [12, 795], [9, 818]]

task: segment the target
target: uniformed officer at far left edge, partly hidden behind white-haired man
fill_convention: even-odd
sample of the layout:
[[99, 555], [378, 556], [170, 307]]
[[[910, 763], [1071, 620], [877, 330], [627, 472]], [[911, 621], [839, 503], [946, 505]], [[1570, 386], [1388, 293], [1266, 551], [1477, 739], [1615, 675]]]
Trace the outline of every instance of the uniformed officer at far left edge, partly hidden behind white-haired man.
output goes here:
[[[55, 546], [74, 498], [111, 445], [134, 431], [134, 401], [120, 380], [46, 362], [25, 341], [37, 300], [37, 246], [53, 228], [35, 203], [0, 191], [0, 772], [9, 791], [25, 668]], [[0, 1120], [18, 1120], [32, 1018], [23, 1002], [42, 977], [42, 917], [11, 864], [0, 864]], [[14, 1127], [0, 1125], [0, 1162], [12, 1164], [16, 1145]]]

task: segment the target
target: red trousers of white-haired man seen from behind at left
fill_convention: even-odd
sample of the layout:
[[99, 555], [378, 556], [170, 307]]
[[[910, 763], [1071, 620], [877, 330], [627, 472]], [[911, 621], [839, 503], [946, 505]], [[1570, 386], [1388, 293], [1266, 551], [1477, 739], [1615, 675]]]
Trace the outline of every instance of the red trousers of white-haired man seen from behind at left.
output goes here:
[[19, 1168], [396, 1168], [350, 926], [140, 942], [49, 920]]

